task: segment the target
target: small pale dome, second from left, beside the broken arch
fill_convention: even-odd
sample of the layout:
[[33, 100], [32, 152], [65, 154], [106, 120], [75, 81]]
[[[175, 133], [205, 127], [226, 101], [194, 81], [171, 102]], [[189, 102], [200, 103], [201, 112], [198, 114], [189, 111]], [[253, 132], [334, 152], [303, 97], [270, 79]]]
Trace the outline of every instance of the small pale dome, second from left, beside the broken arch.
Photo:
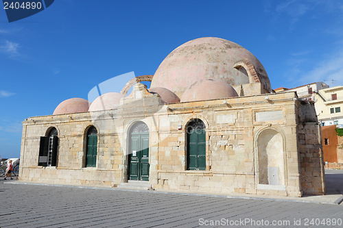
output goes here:
[[113, 110], [119, 106], [120, 99], [125, 95], [118, 92], [108, 92], [97, 97], [89, 107], [89, 112]]

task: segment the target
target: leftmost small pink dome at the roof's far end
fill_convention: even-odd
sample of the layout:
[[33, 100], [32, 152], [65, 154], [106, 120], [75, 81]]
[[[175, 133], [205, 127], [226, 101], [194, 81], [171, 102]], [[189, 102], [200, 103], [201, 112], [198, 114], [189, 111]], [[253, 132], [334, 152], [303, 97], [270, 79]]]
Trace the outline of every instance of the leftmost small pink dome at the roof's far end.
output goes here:
[[75, 112], [87, 112], [91, 102], [82, 98], [71, 98], [65, 101], [62, 101], [55, 109], [53, 115], [58, 114], [69, 114]]

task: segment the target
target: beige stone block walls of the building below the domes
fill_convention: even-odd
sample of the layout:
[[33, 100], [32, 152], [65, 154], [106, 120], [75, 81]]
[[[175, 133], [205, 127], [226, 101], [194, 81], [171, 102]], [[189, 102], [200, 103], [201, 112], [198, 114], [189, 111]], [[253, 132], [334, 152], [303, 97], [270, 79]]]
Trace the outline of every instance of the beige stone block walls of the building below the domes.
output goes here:
[[[299, 117], [307, 111], [299, 107], [294, 92], [167, 107], [157, 95], [136, 88], [117, 110], [24, 121], [21, 179], [92, 186], [126, 182], [128, 132], [143, 121], [150, 128], [152, 188], [293, 197], [323, 194], [320, 128]], [[206, 126], [206, 170], [187, 170], [185, 129], [194, 118]], [[84, 167], [86, 131], [91, 125], [98, 130], [97, 166]], [[58, 129], [60, 139], [58, 164], [38, 166], [40, 136], [51, 127]], [[275, 145], [278, 160], [272, 158]], [[269, 158], [262, 161], [263, 153]]]

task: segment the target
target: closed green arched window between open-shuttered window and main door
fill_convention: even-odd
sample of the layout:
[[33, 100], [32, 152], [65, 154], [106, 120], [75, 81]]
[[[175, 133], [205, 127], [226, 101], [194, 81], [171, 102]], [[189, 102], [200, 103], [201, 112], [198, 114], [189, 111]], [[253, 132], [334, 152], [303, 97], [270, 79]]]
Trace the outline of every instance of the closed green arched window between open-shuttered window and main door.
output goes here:
[[87, 131], [86, 167], [97, 166], [97, 129], [92, 126]]

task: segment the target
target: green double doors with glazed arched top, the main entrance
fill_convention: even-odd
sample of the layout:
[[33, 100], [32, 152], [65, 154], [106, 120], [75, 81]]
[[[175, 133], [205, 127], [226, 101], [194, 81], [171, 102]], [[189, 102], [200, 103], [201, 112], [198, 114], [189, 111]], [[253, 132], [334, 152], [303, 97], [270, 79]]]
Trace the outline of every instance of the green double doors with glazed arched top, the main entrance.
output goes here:
[[129, 179], [149, 181], [149, 128], [135, 123], [129, 135]]

